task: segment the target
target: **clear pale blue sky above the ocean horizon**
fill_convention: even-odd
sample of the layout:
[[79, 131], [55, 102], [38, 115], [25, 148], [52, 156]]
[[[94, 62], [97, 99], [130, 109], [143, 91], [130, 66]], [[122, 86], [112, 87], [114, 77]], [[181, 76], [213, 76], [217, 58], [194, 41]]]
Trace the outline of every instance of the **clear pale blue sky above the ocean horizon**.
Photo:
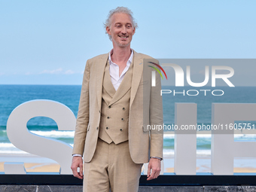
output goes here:
[[0, 84], [81, 84], [87, 59], [112, 48], [103, 23], [118, 6], [130, 8], [139, 25], [136, 52], [157, 59], [256, 58], [254, 0], [0, 0]]

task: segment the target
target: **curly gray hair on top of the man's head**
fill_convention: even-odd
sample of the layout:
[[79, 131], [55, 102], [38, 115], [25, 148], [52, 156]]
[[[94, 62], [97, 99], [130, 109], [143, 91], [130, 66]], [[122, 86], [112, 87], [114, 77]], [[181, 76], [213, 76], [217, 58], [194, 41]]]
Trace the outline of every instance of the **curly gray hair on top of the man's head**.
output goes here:
[[[112, 9], [111, 11], [109, 11], [108, 17], [107, 17], [107, 19], [105, 20], [105, 23], [104, 23], [105, 29], [106, 29], [107, 26], [110, 28], [110, 26], [111, 26], [111, 17], [113, 16], [113, 14], [117, 14], [117, 13], [123, 13], [123, 14], [130, 15], [130, 17], [132, 19], [133, 29], [138, 28], [138, 24], [136, 23], [136, 20], [133, 18], [133, 12], [130, 11], [129, 8], [117, 7], [115, 9]], [[105, 33], [108, 34], [107, 31]], [[108, 34], [108, 38], [110, 39], [110, 41], [112, 41], [111, 35]]]

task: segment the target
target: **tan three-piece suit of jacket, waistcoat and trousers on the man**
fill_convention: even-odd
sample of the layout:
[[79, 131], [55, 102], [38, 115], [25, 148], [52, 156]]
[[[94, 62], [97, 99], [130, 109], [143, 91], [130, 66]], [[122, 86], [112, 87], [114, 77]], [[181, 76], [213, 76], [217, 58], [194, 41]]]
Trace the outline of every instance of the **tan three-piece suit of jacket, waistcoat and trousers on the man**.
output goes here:
[[[111, 84], [108, 53], [87, 60], [73, 149], [73, 154], [84, 154], [86, 186], [110, 184], [112, 191], [136, 191], [142, 163], [148, 163], [149, 157], [163, 158], [163, 131], [147, 126], [163, 125], [160, 75], [156, 87], [151, 87], [154, 69], [143, 63], [151, 57], [133, 53], [133, 62], [117, 90]], [[105, 181], [104, 174], [110, 181]], [[125, 186], [126, 180], [132, 184]]]

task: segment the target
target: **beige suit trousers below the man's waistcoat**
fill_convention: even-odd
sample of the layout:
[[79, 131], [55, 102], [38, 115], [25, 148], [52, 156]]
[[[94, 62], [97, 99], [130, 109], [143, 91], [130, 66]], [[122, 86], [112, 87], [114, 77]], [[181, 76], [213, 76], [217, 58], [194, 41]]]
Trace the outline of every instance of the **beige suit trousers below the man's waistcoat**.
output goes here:
[[137, 192], [142, 165], [131, 159], [128, 141], [115, 145], [98, 139], [93, 159], [84, 163], [83, 191]]

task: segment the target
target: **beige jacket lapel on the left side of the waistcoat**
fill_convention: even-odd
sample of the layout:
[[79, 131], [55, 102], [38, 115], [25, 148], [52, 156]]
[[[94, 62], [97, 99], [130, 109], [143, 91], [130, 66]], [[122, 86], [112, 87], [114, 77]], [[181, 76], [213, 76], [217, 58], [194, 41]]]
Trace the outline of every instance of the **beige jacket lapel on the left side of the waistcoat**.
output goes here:
[[102, 85], [105, 65], [108, 62], [108, 53], [103, 54], [99, 63], [96, 63], [96, 97], [98, 100], [99, 111], [102, 110]]

